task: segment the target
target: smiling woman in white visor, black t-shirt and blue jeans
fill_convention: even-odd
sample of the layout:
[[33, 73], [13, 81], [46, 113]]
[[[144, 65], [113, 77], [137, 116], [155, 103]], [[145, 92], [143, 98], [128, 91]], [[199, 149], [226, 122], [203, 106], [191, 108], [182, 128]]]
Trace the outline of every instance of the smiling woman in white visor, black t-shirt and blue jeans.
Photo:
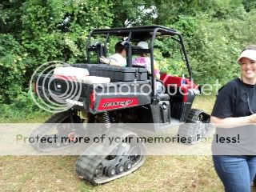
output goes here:
[[[255, 145], [256, 130], [255, 126], [248, 126], [256, 123], [256, 46], [246, 47], [237, 62], [241, 77], [222, 87], [210, 119], [218, 127], [217, 137], [249, 133], [240, 143], [219, 146], [213, 142], [214, 168], [225, 191], [233, 192], [250, 191], [250, 183], [256, 174], [255, 150], [251, 150]], [[222, 127], [220, 123], [228, 126]]]

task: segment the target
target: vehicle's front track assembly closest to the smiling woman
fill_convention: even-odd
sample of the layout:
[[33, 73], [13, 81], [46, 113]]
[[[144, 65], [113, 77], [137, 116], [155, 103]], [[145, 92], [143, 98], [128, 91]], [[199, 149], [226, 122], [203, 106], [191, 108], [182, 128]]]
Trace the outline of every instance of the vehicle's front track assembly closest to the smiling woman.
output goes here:
[[178, 128], [178, 136], [185, 137], [188, 144], [202, 141], [210, 130], [210, 115], [202, 110], [192, 109], [186, 123]]

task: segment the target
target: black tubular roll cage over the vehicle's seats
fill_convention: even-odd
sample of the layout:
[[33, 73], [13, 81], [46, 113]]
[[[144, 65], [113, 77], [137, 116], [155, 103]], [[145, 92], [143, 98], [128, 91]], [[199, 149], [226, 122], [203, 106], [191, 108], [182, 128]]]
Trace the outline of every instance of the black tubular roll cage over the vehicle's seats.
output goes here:
[[[104, 45], [102, 43], [98, 43], [94, 47], [90, 46], [90, 38], [94, 35], [102, 35], [106, 36]], [[157, 35], [169, 35], [170, 38], [174, 39], [174, 41], [179, 42], [181, 45], [181, 54], [184, 62], [186, 63], [186, 68], [188, 70], [188, 73], [190, 75], [189, 79], [192, 80], [192, 71], [190, 68], [190, 62], [186, 55], [185, 46], [182, 40], [182, 35], [179, 34], [176, 30], [169, 29], [165, 26], [134, 26], [134, 27], [122, 27], [122, 28], [113, 28], [113, 29], [98, 29], [98, 30], [92, 30], [89, 34], [89, 37], [87, 39], [87, 46], [86, 46], [86, 57], [87, 62], [90, 63], [90, 51], [99, 50], [98, 53], [98, 62], [99, 62], [99, 56], [105, 55], [106, 56], [106, 43], [109, 40], [110, 35], [114, 36], [122, 36], [122, 37], [128, 37], [123, 44], [126, 46], [126, 61], [127, 66], [132, 66], [131, 61], [131, 55], [132, 55], [132, 47], [130, 46], [130, 39], [150, 39], [150, 48], [148, 50], [143, 50], [143, 52], [147, 52], [150, 54], [150, 61], [151, 61], [151, 74], [154, 74], [154, 40]], [[174, 36], [177, 35], [178, 38], [174, 38]], [[136, 50], [136, 49], [135, 49]], [[142, 50], [142, 49], [141, 49]], [[137, 50], [138, 51], [138, 50]], [[139, 51], [138, 51], [139, 52]], [[154, 91], [154, 75], [152, 75], [151, 78], [151, 85], [152, 85], [152, 97], [155, 98], [155, 91]]]

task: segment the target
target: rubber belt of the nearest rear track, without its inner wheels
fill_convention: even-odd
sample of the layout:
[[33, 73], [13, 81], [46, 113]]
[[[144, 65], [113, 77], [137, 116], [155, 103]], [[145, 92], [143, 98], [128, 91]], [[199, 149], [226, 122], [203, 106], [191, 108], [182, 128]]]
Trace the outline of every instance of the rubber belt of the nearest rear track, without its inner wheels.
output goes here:
[[[136, 134], [134, 134], [131, 131], [128, 130], [107, 130], [104, 134], [106, 134], [108, 137], [122, 137], [126, 138], [129, 135], [134, 135], [137, 137]], [[91, 145], [86, 151], [78, 158], [78, 161], [76, 163], [76, 171], [78, 173], [78, 176], [81, 178], [87, 180], [88, 182], [98, 185], [98, 184], [103, 184], [106, 182], [110, 182], [116, 178], [121, 178], [127, 174], [132, 173], [134, 170], [137, 170], [138, 167], [142, 166], [143, 162], [145, 162], [146, 156], [142, 155], [141, 158], [138, 160], [138, 162], [134, 163], [133, 167], [122, 173], [122, 174], [116, 174], [114, 177], [107, 177], [103, 176], [102, 178], [94, 178], [94, 172], [97, 168], [97, 166], [102, 162], [104, 158], [106, 158], [107, 155], [95, 155], [95, 154], [110, 154], [114, 148], [118, 146], [118, 143], [115, 143], [114, 145], [102, 145], [98, 143], [94, 143]], [[143, 151], [143, 154], [146, 153], [145, 147], [142, 144], [141, 149]]]

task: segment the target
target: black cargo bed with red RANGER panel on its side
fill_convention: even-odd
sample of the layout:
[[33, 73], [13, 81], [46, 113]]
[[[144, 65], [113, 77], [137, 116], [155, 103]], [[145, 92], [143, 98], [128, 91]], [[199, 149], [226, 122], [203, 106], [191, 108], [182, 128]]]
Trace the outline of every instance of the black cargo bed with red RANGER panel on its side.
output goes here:
[[150, 80], [87, 84], [42, 74], [38, 76], [37, 94], [56, 103], [64, 99], [67, 105], [92, 114], [151, 103]]

